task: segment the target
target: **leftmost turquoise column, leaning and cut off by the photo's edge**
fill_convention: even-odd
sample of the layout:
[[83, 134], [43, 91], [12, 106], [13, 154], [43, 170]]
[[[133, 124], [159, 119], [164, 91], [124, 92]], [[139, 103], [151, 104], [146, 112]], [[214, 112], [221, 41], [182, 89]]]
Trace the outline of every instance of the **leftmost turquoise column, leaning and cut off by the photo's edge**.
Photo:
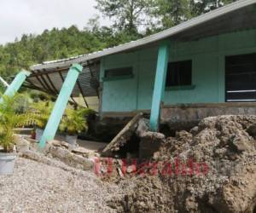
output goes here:
[[[22, 83], [26, 80], [28, 76], [30, 76], [31, 72], [22, 70], [16, 76], [13, 82], [9, 85], [8, 89], [5, 90], [3, 95], [13, 96], [20, 89]], [[1, 99], [0, 102], [3, 100]]]

